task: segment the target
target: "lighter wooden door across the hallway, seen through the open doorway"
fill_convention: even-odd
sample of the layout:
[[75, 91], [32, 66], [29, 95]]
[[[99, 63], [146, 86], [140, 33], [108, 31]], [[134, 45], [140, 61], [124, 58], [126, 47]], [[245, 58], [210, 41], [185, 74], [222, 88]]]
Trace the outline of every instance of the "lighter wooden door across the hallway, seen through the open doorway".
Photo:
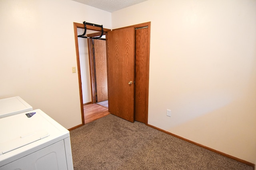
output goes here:
[[108, 100], [106, 41], [94, 39], [97, 102]]

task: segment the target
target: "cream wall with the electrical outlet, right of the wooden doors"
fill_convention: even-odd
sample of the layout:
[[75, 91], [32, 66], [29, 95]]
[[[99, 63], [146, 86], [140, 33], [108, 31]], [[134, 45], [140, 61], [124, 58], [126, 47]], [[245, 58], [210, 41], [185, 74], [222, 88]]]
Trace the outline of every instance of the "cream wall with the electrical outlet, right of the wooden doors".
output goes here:
[[255, 163], [256, 1], [148, 0], [112, 13], [113, 29], [147, 21], [148, 123]]

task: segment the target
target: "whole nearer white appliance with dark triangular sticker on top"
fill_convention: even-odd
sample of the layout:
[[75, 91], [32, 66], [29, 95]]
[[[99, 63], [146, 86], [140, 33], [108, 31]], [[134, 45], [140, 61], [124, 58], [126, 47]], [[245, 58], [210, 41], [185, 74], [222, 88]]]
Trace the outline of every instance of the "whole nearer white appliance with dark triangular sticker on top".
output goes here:
[[73, 170], [69, 131], [40, 109], [1, 118], [0, 170]]

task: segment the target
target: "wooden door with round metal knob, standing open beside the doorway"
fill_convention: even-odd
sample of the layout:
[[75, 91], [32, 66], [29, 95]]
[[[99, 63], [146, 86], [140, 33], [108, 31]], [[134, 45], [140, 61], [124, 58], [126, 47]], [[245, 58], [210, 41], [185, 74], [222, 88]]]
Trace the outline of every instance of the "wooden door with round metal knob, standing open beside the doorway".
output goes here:
[[[108, 109], [134, 122], [134, 27], [108, 32]], [[131, 82], [131, 84], [128, 84]]]

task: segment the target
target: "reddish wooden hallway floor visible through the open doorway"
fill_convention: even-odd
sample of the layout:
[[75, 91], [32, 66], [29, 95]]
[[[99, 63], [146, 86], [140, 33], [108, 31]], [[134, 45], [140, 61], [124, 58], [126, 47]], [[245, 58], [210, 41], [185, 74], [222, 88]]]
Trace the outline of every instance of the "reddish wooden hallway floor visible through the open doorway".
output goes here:
[[98, 104], [88, 104], [84, 106], [84, 123], [89, 123], [110, 114], [108, 108]]

